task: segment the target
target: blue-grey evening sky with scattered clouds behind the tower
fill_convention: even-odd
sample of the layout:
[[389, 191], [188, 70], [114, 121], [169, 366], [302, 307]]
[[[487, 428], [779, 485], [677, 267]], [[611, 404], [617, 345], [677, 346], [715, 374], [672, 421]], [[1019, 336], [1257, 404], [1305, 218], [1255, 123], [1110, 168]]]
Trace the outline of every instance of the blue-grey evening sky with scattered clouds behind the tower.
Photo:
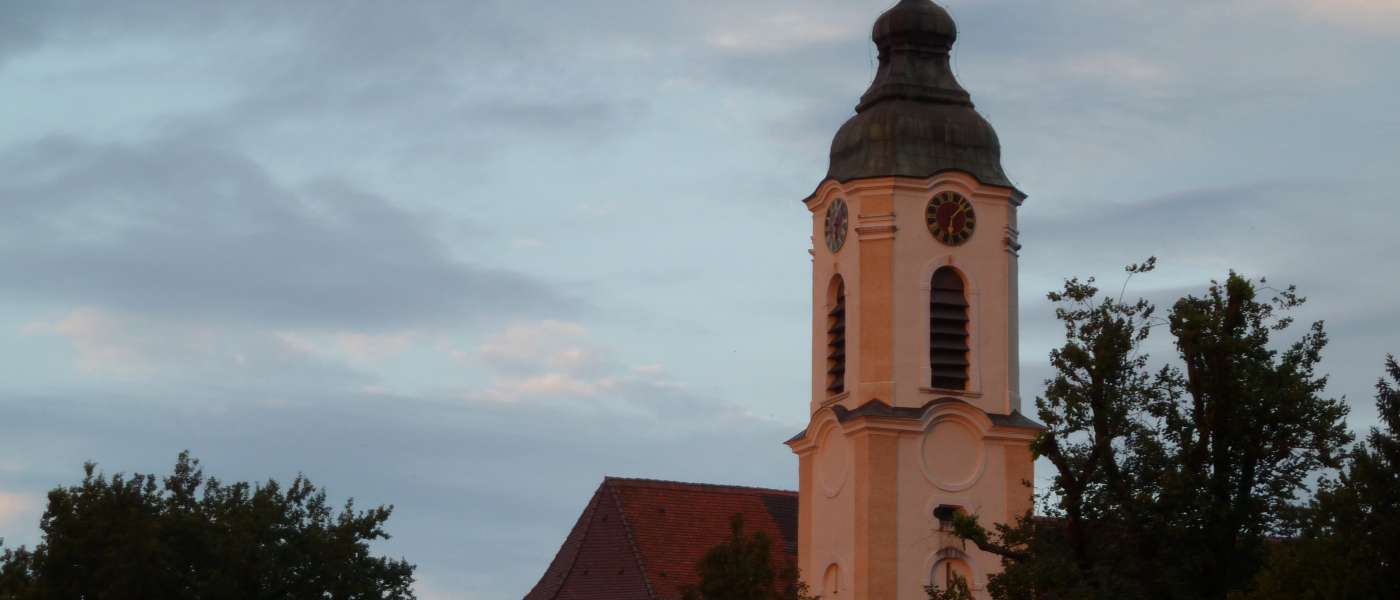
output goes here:
[[[0, 537], [189, 449], [392, 503], [423, 599], [518, 599], [605, 476], [795, 488], [801, 200], [889, 4], [0, 0]], [[945, 6], [1030, 196], [1023, 396], [1044, 292], [1156, 256], [1128, 294], [1296, 284], [1373, 422], [1400, 1]]]

